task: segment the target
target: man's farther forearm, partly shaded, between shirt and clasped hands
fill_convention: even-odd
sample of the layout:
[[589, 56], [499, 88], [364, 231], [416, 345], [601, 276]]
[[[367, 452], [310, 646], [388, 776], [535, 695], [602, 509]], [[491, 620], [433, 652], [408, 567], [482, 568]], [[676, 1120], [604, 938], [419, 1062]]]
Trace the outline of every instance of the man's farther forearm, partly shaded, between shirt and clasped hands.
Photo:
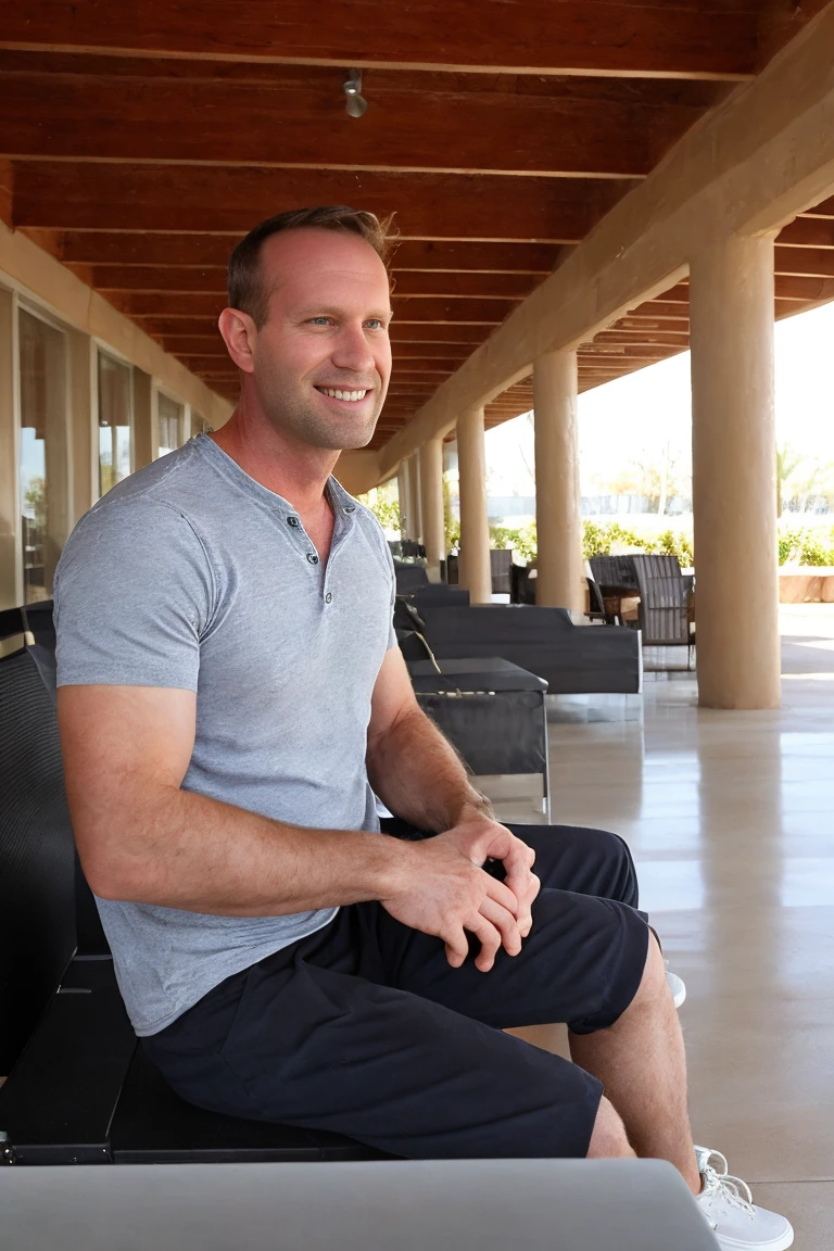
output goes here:
[[451, 743], [419, 708], [369, 743], [368, 776], [383, 803], [420, 829], [451, 829], [468, 812], [493, 816]]

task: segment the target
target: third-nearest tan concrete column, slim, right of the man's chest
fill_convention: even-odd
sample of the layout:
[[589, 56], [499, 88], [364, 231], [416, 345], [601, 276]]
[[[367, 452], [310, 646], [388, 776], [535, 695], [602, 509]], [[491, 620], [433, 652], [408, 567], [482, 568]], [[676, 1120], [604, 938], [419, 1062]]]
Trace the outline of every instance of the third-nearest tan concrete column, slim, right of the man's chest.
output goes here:
[[483, 408], [470, 408], [458, 418], [458, 473], [460, 479], [460, 585], [469, 588], [469, 598], [473, 604], [489, 604], [493, 594], [493, 577], [489, 565]]

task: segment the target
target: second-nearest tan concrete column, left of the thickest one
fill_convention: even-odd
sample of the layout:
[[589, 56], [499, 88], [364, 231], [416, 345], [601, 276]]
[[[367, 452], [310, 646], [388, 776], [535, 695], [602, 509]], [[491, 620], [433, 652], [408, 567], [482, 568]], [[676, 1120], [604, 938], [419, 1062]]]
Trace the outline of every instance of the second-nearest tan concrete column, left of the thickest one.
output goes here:
[[576, 428], [576, 353], [548, 352], [533, 367], [535, 407], [536, 604], [584, 612]]

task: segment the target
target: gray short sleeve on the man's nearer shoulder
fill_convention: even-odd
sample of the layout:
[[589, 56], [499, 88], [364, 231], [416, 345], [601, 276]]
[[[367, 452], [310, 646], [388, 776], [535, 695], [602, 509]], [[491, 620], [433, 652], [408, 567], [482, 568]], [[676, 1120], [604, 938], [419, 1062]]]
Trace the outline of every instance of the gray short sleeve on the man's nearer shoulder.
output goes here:
[[136, 495], [94, 508], [55, 577], [58, 686], [196, 691], [215, 595], [185, 514]]

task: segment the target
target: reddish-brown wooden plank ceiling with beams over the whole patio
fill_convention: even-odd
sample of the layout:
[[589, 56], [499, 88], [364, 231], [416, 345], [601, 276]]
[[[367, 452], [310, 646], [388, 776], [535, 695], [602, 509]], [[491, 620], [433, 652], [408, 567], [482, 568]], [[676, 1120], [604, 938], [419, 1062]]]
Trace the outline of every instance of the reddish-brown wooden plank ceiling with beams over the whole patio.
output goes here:
[[[395, 211], [380, 447], [825, 3], [18, 0], [0, 6], [0, 216], [234, 398], [216, 318], [236, 240], [304, 205]], [[834, 200], [776, 258], [778, 317], [834, 298]], [[580, 388], [688, 330], [679, 284], [583, 345]], [[531, 404], [520, 383], [488, 422]]]

